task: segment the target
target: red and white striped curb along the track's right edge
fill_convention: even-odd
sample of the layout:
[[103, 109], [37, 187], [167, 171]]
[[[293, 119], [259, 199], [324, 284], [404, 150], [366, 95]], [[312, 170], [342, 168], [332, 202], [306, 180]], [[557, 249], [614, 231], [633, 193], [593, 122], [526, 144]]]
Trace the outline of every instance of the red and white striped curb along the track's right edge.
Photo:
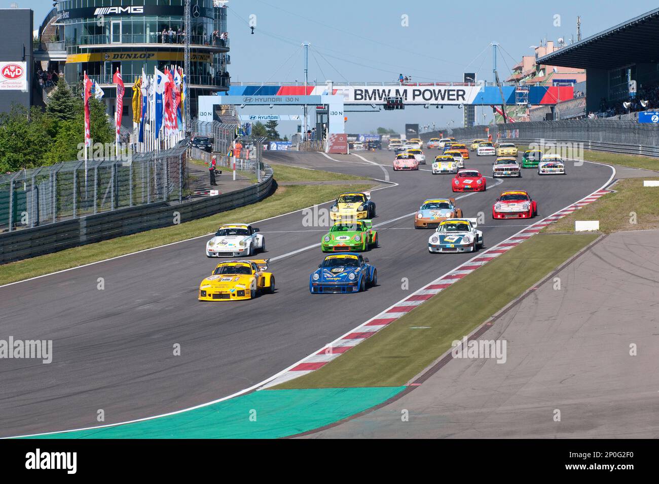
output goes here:
[[327, 363], [331, 362], [331, 360], [338, 358], [343, 353], [347, 352], [349, 349], [354, 348], [366, 338], [370, 338], [370, 336], [373, 336], [378, 331], [380, 331], [380, 329], [393, 323], [393, 321], [395, 321], [399, 317], [407, 314], [409, 311], [416, 308], [416, 306], [423, 304], [428, 299], [432, 298], [432, 296], [434, 296], [435, 294], [439, 294], [445, 288], [453, 284], [455, 281], [459, 281], [467, 274], [471, 274], [473, 271], [475, 271], [482, 265], [485, 265], [486, 263], [488, 263], [492, 259], [495, 259], [501, 254], [505, 254], [505, 252], [508, 252], [511, 248], [521, 244], [528, 238], [534, 236], [535, 234], [540, 232], [540, 230], [544, 229], [544, 227], [550, 225], [550, 223], [562, 219], [563, 217], [565, 217], [565, 215], [569, 215], [573, 211], [578, 210], [581, 207], [594, 202], [601, 196], [606, 195], [610, 192], [612, 192], [612, 190], [605, 190], [604, 188], [597, 190], [596, 192], [593, 192], [587, 197], [582, 198], [578, 202], [575, 202], [572, 205], [569, 205], [568, 207], [560, 209], [556, 213], [552, 213], [552, 215], [549, 215], [548, 217], [545, 217], [544, 219], [532, 225], [529, 225], [525, 229], [520, 230], [516, 234], [503, 240], [503, 242], [500, 242], [499, 244], [496, 244], [496, 246], [486, 250], [485, 252], [476, 255], [473, 259], [470, 259], [469, 261], [463, 263], [462, 265], [459, 265], [452, 271], [449, 271], [448, 273], [442, 275], [438, 279], [435, 279], [434, 281], [430, 282], [430, 284], [427, 284], [426, 286], [420, 288], [419, 290], [416, 290], [416, 292], [413, 292], [413, 294], [411, 294], [410, 296], [401, 299], [399, 302], [385, 309], [380, 314], [376, 315], [375, 317], [372, 317], [365, 323], [362, 323], [355, 329], [352, 329], [348, 333], [345, 333], [345, 335], [327, 344], [324, 348], [321, 348], [317, 352], [314, 352], [309, 356], [307, 356], [306, 358], [295, 363], [295, 365], [293, 365], [283, 373], [280, 373], [279, 375], [277, 375], [277, 377], [275, 377], [275, 379], [268, 381], [268, 383], [266, 383], [259, 389], [266, 389], [268, 387], [273, 387], [275, 385], [279, 385], [280, 383], [284, 383], [285, 381], [289, 381], [297, 377], [301, 377], [302, 375], [306, 375], [307, 373], [311, 373], [312, 371], [316, 371], [318, 368], [323, 367]]

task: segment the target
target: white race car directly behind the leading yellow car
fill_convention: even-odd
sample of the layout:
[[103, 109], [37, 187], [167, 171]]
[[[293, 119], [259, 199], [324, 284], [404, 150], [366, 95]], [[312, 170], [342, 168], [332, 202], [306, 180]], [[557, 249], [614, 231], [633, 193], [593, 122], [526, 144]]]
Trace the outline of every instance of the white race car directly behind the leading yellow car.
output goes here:
[[266, 238], [248, 223], [225, 223], [206, 242], [206, 257], [249, 257], [266, 250]]

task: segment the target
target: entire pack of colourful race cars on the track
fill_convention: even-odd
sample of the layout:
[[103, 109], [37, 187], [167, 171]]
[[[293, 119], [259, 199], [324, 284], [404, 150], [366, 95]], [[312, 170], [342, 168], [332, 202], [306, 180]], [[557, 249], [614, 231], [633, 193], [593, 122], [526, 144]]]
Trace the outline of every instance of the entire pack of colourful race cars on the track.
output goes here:
[[[391, 142], [394, 142], [392, 148]], [[389, 149], [397, 151], [394, 170], [418, 169], [425, 163], [423, 142], [419, 139], [390, 140]], [[451, 180], [453, 192], [484, 192], [486, 178], [477, 169], [465, 168], [469, 151], [476, 155], [497, 155], [492, 176], [519, 176], [522, 168], [537, 168], [542, 174], [565, 174], [565, 163], [555, 155], [543, 155], [542, 151], [526, 150], [521, 163], [517, 162], [518, 150], [514, 144], [494, 145], [486, 140], [474, 140], [467, 144], [454, 138], [432, 138], [428, 148], [443, 149], [436, 157], [433, 175], [455, 174]], [[494, 153], [492, 153], [494, 150]], [[493, 219], [530, 219], [538, 214], [538, 204], [525, 190], [505, 190], [492, 204]], [[370, 265], [368, 252], [379, 246], [377, 230], [372, 219], [376, 217], [376, 204], [370, 192], [341, 194], [329, 209], [333, 222], [320, 241], [322, 252], [329, 252], [322, 263], [309, 276], [312, 294], [362, 292], [378, 283], [378, 271]], [[454, 198], [430, 198], [424, 200], [415, 213], [415, 229], [434, 229], [428, 238], [430, 253], [476, 252], [484, 246], [483, 232], [478, 230], [478, 219], [464, 217]], [[247, 223], [225, 224], [206, 243], [208, 257], [250, 257], [265, 252], [266, 240], [259, 229]], [[229, 301], [251, 299], [262, 292], [275, 292], [275, 277], [268, 272], [270, 259], [237, 259], [224, 261], [215, 267], [199, 287], [200, 301]]]

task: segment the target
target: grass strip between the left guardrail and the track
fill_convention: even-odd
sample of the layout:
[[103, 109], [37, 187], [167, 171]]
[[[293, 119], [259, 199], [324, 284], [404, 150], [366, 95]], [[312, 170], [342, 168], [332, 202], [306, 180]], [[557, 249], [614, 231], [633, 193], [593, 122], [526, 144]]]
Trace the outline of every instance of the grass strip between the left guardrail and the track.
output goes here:
[[[293, 168], [306, 173], [312, 171]], [[331, 178], [333, 173], [324, 172], [327, 180], [343, 180], [339, 176]], [[275, 175], [275, 180], [278, 176]], [[327, 202], [346, 191], [363, 191], [374, 186], [372, 183], [354, 185], [295, 185], [280, 186], [277, 191], [262, 202], [237, 209], [217, 213], [210, 217], [197, 219], [162, 229], [147, 230], [138, 234], [104, 240], [96, 244], [75, 247], [53, 254], [40, 255], [5, 265], [0, 265], [0, 285], [22, 281], [40, 275], [71, 269], [79, 265], [130, 254], [139, 250], [150, 249], [180, 240], [209, 234], [217, 230], [222, 223], [235, 221], [257, 221], [299, 210], [317, 203]], [[202, 254], [203, 255], [203, 254]]]

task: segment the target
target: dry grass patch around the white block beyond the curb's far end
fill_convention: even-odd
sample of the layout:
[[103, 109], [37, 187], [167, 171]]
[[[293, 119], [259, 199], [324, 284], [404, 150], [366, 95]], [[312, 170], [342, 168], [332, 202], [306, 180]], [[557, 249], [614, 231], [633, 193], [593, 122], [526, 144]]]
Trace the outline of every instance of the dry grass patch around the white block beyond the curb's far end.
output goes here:
[[577, 220], [598, 220], [600, 230], [605, 233], [659, 229], [659, 187], [643, 186], [643, 180], [659, 178], [619, 180], [611, 187], [616, 192], [606, 194], [548, 225], [543, 232], [573, 232]]

